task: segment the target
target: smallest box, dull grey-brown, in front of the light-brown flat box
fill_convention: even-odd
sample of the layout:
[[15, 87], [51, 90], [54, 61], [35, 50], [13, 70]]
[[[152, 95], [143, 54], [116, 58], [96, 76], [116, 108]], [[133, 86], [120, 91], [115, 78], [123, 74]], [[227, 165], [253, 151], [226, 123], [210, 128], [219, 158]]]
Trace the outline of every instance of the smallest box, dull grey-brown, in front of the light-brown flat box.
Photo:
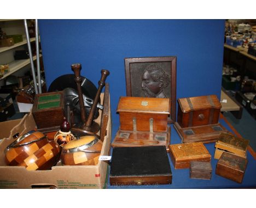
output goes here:
[[190, 178], [210, 180], [212, 178], [211, 162], [191, 161]]

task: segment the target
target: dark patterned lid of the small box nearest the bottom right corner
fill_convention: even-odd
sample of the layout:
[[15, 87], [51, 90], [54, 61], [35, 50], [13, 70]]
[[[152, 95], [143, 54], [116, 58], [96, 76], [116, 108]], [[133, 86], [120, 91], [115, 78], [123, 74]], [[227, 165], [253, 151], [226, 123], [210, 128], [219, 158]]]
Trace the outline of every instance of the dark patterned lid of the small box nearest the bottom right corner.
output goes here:
[[239, 157], [228, 152], [223, 152], [217, 164], [238, 170], [240, 172], [245, 172], [247, 162], [248, 160], [246, 158]]

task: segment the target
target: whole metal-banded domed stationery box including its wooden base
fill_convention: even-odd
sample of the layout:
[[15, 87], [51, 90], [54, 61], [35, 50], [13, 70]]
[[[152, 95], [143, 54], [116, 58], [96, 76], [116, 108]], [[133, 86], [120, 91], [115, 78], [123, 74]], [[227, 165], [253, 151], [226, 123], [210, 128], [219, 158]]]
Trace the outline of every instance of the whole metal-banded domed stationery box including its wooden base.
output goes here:
[[216, 142], [220, 133], [228, 133], [218, 123], [221, 107], [216, 95], [178, 99], [178, 118], [174, 129], [182, 143]]

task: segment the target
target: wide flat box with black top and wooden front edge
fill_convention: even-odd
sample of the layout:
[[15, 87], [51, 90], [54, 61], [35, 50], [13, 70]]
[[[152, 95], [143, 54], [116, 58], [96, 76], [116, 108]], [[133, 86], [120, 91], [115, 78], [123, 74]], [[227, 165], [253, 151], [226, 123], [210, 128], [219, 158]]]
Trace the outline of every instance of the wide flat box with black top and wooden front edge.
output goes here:
[[165, 146], [113, 148], [111, 185], [158, 185], [172, 183]]

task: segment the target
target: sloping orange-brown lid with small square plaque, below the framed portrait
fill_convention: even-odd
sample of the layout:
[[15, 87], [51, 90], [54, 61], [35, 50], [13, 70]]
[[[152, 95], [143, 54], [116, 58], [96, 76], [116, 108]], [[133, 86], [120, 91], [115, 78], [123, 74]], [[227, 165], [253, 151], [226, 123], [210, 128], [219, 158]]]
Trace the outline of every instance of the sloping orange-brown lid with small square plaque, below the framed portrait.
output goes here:
[[170, 114], [171, 99], [121, 96], [117, 112]]

